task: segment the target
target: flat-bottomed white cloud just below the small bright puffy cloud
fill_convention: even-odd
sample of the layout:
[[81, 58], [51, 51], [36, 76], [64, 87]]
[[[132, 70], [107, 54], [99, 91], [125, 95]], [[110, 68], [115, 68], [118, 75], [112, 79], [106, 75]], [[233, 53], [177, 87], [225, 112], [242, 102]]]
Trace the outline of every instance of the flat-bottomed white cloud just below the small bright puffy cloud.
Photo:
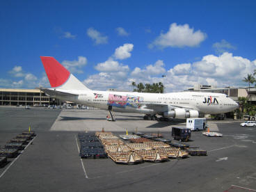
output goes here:
[[98, 63], [95, 67], [99, 72], [127, 72], [129, 71], [128, 65], [122, 65], [118, 61], [113, 61], [113, 58], [109, 58], [104, 63]]

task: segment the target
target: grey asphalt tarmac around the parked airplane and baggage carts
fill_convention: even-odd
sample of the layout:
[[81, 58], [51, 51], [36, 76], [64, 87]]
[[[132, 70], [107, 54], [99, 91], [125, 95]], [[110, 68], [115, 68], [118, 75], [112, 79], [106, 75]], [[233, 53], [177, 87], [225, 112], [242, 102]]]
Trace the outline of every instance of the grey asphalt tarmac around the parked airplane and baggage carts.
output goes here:
[[256, 128], [240, 127], [235, 120], [209, 122], [223, 138], [207, 138], [200, 131], [192, 133], [189, 145], [207, 150], [206, 157], [129, 166], [111, 159], [81, 160], [78, 131], [106, 127], [106, 131], [119, 135], [137, 128], [147, 133], [160, 131], [170, 138], [173, 125], [184, 125], [182, 121], [145, 121], [138, 114], [115, 116], [116, 122], [106, 122], [106, 111], [100, 110], [1, 107], [1, 146], [29, 125], [37, 136], [22, 154], [8, 159], [9, 163], [0, 168], [0, 191], [256, 190]]

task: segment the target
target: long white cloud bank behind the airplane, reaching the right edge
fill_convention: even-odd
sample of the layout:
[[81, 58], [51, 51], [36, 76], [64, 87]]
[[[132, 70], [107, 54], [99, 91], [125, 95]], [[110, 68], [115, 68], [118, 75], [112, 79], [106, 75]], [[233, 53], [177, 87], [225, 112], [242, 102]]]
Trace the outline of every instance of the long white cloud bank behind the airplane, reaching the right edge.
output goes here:
[[[198, 83], [218, 87], [246, 86], [242, 79], [256, 69], [256, 60], [250, 61], [247, 58], [233, 56], [226, 52], [221, 56], [204, 56], [200, 61], [194, 63], [179, 63], [171, 68], [166, 68], [161, 60], [143, 68], [135, 67], [131, 72], [122, 70], [122, 67], [121, 70], [111, 71], [110, 65], [106, 66], [100, 65], [98, 69], [102, 67], [104, 70], [88, 77], [83, 83], [96, 90], [106, 90], [107, 88], [132, 90], [132, 81], [136, 83], [158, 83], [161, 81], [166, 92], [177, 92]], [[112, 63], [111, 66], [119, 68], [123, 65], [119, 63], [113, 65]], [[129, 68], [128, 65], [126, 67]], [[162, 74], [165, 74], [166, 77], [161, 77]]]

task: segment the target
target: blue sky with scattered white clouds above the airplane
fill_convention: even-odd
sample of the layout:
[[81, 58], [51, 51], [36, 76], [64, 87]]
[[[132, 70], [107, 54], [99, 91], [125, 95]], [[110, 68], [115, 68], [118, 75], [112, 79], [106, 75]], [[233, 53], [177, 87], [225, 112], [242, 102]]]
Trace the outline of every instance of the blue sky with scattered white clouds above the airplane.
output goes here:
[[[54, 56], [89, 88], [246, 86], [256, 1], [0, 1], [0, 87], [49, 86]], [[161, 76], [165, 74], [166, 77]]]

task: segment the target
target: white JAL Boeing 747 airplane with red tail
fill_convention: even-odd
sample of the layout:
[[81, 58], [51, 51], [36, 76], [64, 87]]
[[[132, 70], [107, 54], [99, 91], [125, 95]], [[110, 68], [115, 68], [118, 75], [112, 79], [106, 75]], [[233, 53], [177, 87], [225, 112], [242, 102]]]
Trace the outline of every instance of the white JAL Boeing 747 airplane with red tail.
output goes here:
[[198, 118], [200, 113], [227, 113], [238, 104], [221, 93], [137, 93], [90, 90], [61, 63], [50, 56], [41, 56], [51, 88], [40, 88], [47, 95], [98, 109], [124, 113], [143, 113], [144, 119]]

